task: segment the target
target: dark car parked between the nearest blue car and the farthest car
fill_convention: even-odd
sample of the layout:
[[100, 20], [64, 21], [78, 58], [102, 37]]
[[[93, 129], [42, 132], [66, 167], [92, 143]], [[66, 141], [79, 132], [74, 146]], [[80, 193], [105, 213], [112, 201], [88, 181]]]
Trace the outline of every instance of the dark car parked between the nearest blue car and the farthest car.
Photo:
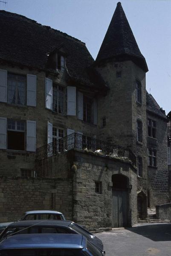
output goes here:
[[72, 233], [81, 234], [103, 252], [102, 241], [73, 221], [17, 221], [0, 234], [0, 241], [7, 236], [26, 233]]

